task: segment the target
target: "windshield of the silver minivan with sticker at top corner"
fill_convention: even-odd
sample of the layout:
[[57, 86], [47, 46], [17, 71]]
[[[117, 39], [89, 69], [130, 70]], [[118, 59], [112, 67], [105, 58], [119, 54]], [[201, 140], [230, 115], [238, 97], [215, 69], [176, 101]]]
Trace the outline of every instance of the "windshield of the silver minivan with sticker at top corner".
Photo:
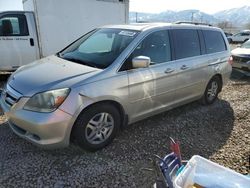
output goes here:
[[100, 69], [111, 65], [137, 36], [138, 31], [124, 29], [94, 30], [59, 53], [59, 57]]

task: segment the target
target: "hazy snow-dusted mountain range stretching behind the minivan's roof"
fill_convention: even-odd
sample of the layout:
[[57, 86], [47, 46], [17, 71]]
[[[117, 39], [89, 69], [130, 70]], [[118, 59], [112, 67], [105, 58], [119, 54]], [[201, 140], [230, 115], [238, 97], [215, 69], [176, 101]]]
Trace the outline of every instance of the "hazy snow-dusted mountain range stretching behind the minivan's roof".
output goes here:
[[159, 14], [130, 12], [130, 22], [176, 22], [191, 21], [217, 24], [229, 21], [232, 24], [241, 26], [250, 23], [250, 6], [224, 10], [215, 14], [206, 14], [199, 10], [171, 11], [167, 10]]

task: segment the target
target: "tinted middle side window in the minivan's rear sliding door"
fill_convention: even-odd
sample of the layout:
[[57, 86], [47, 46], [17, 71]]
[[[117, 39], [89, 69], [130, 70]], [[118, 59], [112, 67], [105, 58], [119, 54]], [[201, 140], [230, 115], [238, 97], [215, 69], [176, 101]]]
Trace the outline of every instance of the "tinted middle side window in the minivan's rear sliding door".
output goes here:
[[176, 29], [173, 30], [173, 37], [176, 59], [193, 57], [201, 54], [197, 30]]

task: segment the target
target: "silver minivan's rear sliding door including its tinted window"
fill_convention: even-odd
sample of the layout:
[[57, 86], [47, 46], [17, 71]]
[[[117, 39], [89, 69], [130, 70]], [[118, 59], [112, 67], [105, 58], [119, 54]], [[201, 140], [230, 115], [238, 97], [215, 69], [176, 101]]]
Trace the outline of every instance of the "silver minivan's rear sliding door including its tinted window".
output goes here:
[[203, 93], [203, 85], [207, 78], [206, 59], [201, 47], [199, 30], [173, 29], [174, 54], [177, 78], [175, 101], [181, 104]]

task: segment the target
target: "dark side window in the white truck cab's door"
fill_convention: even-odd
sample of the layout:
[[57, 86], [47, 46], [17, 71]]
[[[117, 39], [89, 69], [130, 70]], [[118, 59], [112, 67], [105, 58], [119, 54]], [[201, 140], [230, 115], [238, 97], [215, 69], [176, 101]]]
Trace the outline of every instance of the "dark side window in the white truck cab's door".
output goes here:
[[24, 15], [6, 15], [0, 18], [0, 36], [29, 35]]

